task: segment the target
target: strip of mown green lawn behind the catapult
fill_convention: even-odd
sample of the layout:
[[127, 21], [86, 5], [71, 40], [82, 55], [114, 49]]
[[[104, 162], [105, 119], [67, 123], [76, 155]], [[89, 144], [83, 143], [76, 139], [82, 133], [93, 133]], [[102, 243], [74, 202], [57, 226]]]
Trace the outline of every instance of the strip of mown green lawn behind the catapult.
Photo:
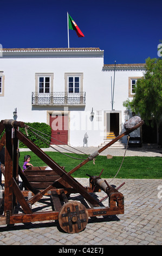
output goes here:
[[[61, 153], [57, 152], [46, 152], [47, 155], [51, 157], [56, 163], [60, 166], [64, 166], [65, 170], [68, 172], [73, 169], [82, 160], [72, 159], [67, 157]], [[30, 163], [33, 166], [46, 166], [39, 157], [37, 157], [33, 152], [21, 152], [20, 153], [20, 166], [23, 166], [23, 157], [24, 155], [30, 155], [31, 160]], [[84, 155], [75, 155], [70, 154], [70, 156], [79, 157], [85, 160]], [[86, 174], [95, 176], [99, 175], [101, 170], [103, 169], [103, 173], [101, 178], [114, 178], [116, 173], [118, 172], [123, 157], [122, 156], [113, 156], [112, 159], [107, 159], [106, 156], [98, 156], [96, 157], [95, 164], [93, 161], [89, 161], [84, 166], [76, 170], [73, 173], [73, 177], [75, 178], [88, 178]], [[122, 163], [122, 167], [120, 172], [116, 176], [116, 178], [121, 179], [161, 179], [162, 178], [162, 157], [141, 157], [141, 156], [126, 156], [124, 162]]]

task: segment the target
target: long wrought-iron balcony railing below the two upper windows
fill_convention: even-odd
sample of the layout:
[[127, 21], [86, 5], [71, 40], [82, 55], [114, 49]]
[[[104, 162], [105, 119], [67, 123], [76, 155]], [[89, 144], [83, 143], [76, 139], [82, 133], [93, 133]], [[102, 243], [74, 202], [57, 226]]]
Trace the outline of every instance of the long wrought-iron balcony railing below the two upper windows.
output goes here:
[[85, 106], [86, 93], [32, 93], [33, 106]]

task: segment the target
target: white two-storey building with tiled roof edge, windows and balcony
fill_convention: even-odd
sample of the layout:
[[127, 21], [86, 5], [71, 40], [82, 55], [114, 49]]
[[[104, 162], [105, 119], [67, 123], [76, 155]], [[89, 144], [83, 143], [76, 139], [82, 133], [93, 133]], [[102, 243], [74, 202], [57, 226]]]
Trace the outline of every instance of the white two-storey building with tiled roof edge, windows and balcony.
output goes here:
[[13, 119], [17, 108], [18, 121], [47, 123], [55, 144], [61, 141], [74, 147], [84, 142], [96, 147], [109, 131], [119, 135], [132, 117], [122, 103], [133, 97], [135, 82], [145, 68], [116, 64], [114, 72], [114, 64], [104, 64], [103, 57], [99, 48], [3, 49], [1, 120]]

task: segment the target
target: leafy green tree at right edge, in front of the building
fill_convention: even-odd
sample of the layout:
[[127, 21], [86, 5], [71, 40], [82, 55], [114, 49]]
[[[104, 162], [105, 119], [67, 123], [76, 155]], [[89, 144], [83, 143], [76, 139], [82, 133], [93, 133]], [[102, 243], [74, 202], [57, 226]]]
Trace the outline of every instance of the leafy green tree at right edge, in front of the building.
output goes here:
[[[162, 122], [162, 59], [146, 59], [144, 77], [137, 81], [133, 100], [123, 103], [132, 112], [139, 113], [148, 124], [155, 120], [157, 124], [157, 142], [159, 143], [159, 126]], [[152, 122], [153, 124], [153, 122]]]

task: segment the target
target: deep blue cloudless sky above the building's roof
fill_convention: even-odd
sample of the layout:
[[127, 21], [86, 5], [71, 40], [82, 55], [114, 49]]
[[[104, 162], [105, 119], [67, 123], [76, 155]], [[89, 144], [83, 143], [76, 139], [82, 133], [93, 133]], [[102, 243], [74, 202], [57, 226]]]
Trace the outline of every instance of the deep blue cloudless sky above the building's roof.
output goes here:
[[67, 11], [84, 38], [69, 30], [70, 47], [99, 47], [104, 63], [158, 58], [161, 0], [0, 0], [3, 48], [68, 47]]

